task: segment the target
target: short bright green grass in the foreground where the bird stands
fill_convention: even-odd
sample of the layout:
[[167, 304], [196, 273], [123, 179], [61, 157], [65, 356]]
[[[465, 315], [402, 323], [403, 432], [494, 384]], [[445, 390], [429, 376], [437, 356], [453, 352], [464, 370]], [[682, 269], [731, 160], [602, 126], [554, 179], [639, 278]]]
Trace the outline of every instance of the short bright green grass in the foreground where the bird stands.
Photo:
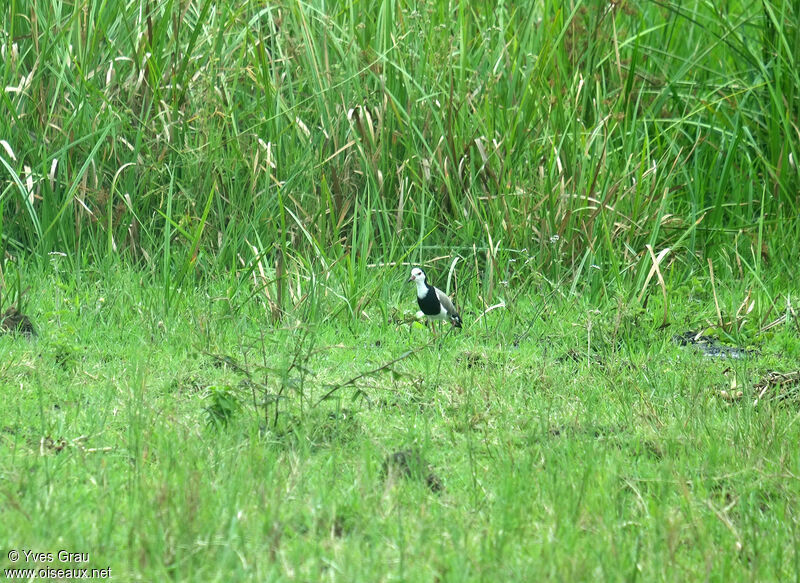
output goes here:
[[[398, 317], [416, 309], [378, 277]], [[5, 552], [88, 552], [80, 566], [133, 581], [800, 572], [800, 396], [753, 405], [756, 381], [796, 365], [796, 322], [749, 341], [745, 325], [760, 354], [724, 361], [671, 341], [713, 322], [706, 290], [668, 330], [657, 309], [543, 294], [473, 324], [464, 298], [465, 329], [426, 345], [375, 307], [270, 327], [224, 282], [160, 312], [128, 269], [36, 279], [39, 336], [0, 337]], [[405, 449], [441, 492], [383, 473]]]

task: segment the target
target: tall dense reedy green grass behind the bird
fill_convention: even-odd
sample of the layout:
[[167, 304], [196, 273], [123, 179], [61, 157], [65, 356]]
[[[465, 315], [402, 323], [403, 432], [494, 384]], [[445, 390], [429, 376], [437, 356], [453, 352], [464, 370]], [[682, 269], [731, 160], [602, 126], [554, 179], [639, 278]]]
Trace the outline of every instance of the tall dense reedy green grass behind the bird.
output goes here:
[[356, 313], [375, 264], [459, 255], [489, 295], [532, 269], [607, 293], [643, 284], [648, 244], [684, 274], [721, 249], [758, 271], [800, 235], [788, 0], [16, 0], [2, 18], [14, 256], [120, 256], [174, 288], [280, 264], [299, 288], [278, 278], [278, 304], [322, 279]]

